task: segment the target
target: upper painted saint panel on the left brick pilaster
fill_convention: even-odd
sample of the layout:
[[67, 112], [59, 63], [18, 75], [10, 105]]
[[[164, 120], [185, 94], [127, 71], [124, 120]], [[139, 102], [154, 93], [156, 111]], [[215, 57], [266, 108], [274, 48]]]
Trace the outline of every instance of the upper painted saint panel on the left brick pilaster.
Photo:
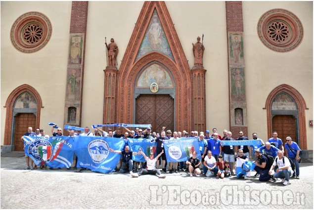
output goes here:
[[69, 64], [82, 64], [84, 34], [70, 36]]

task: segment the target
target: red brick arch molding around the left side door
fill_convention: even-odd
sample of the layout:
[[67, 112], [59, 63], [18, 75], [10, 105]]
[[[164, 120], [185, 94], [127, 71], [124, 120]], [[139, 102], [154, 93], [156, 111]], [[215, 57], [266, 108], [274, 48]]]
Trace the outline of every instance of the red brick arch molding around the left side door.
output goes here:
[[4, 126], [4, 145], [11, 144], [14, 102], [22, 93], [26, 91], [30, 92], [36, 98], [36, 101], [37, 101], [36, 127], [40, 127], [41, 108], [43, 104], [42, 98], [34, 87], [28, 84], [22, 84], [21, 86], [16, 87], [10, 93], [9, 97], [6, 99], [6, 102], [5, 102], [6, 114], [5, 114], [5, 126]]

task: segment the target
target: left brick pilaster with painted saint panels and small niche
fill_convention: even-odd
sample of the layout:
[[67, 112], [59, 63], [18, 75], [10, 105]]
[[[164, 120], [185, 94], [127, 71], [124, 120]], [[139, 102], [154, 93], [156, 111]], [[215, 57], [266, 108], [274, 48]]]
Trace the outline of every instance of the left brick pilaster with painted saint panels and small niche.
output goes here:
[[64, 124], [71, 126], [81, 126], [88, 3], [72, 1], [64, 109]]

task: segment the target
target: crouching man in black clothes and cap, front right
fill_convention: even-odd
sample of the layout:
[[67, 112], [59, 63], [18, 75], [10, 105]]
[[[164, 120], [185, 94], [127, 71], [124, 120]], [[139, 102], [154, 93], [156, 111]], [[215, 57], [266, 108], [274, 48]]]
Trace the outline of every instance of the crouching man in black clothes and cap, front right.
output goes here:
[[254, 170], [260, 174], [259, 180], [268, 181], [269, 179], [272, 179], [273, 181], [276, 181], [273, 175], [269, 174], [271, 164], [269, 163], [267, 157], [264, 156], [259, 149], [255, 150], [254, 154], [258, 158], [257, 161], [254, 161], [256, 164]]

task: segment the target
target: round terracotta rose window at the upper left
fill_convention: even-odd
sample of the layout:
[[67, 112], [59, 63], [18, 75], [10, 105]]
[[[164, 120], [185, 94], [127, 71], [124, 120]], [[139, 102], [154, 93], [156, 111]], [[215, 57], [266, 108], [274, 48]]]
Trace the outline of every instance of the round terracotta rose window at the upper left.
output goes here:
[[33, 53], [49, 42], [51, 33], [51, 22], [43, 13], [27, 12], [14, 21], [10, 39], [18, 51]]

